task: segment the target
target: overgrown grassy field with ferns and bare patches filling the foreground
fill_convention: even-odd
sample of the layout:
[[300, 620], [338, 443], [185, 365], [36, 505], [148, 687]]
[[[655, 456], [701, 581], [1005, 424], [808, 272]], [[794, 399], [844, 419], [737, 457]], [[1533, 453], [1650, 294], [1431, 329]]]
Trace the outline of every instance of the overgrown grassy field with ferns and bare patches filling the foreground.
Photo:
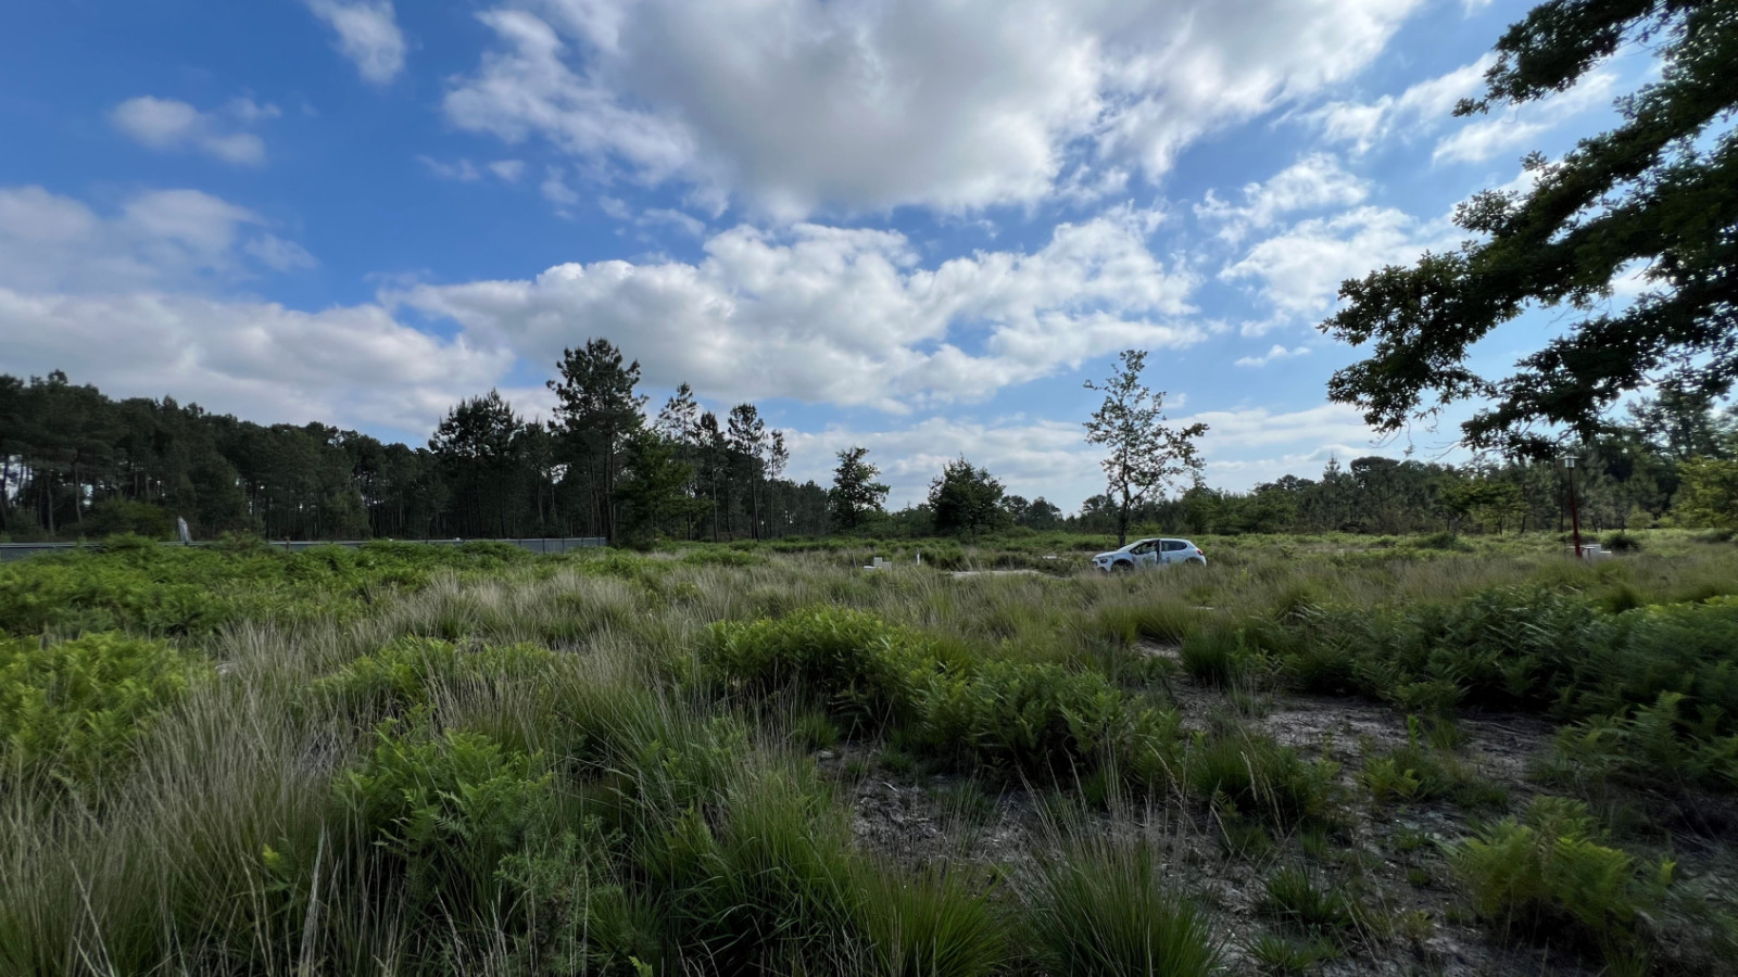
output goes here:
[[1632, 541], [5, 565], [0, 974], [1729, 974], [1738, 546]]

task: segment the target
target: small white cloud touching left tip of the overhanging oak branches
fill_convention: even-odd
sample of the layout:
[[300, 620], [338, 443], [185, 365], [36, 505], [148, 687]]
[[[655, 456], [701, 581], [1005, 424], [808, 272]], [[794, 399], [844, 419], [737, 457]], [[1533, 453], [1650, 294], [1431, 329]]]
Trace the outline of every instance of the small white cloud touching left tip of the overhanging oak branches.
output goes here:
[[1281, 322], [1328, 313], [1347, 278], [1363, 278], [1383, 264], [1410, 264], [1423, 250], [1444, 250], [1456, 240], [1446, 217], [1420, 221], [1392, 207], [1357, 207], [1293, 224], [1251, 247], [1220, 278], [1258, 283], [1276, 316], [1246, 323], [1243, 332], [1260, 334]]

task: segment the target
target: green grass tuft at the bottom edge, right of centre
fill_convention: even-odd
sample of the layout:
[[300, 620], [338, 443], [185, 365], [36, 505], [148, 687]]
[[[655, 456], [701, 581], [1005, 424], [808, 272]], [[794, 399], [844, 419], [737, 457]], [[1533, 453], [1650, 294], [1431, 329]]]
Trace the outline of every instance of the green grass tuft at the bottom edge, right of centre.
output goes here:
[[1025, 928], [1062, 977], [1206, 977], [1220, 963], [1206, 916], [1166, 885], [1147, 840], [1071, 840], [1041, 855]]

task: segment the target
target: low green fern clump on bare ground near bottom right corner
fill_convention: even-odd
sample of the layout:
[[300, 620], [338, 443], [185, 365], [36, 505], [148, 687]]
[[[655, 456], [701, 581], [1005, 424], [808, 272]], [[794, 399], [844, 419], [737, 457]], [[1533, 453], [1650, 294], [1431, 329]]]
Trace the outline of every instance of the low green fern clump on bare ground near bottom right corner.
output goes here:
[[1488, 824], [1446, 855], [1486, 921], [1535, 934], [1569, 927], [1615, 953], [1635, 944], [1637, 916], [1660, 902], [1674, 864], [1641, 871], [1601, 841], [1585, 805], [1542, 796], [1524, 821]]

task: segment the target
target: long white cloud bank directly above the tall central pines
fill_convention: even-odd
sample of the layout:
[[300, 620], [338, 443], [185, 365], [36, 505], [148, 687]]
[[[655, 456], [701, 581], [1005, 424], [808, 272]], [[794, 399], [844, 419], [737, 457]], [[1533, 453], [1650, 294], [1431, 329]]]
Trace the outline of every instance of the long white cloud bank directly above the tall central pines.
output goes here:
[[647, 382], [725, 398], [791, 396], [911, 412], [1138, 346], [1180, 348], [1194, 278], [1145, 247], [1145, 214], [1062, 224], [1032, 254], [921, 268], [899, 233], [798, 224], [711, 236], [699, 264], [561, 264], [532, 282], [424, 285], [388, 296], [532, 362], [607, 336]]

